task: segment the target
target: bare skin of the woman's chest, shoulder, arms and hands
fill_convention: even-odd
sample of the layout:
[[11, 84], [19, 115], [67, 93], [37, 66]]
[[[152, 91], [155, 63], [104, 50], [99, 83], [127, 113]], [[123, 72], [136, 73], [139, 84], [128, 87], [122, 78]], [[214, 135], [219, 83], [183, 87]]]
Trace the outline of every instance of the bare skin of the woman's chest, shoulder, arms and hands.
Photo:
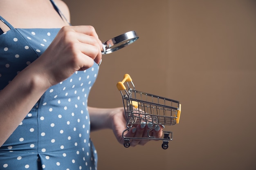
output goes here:
[[[61, 0], [54, 2], [70, 21], [67, 5]], [[93, 26], [69, 26], [49, 0], [0, 0], [0, 15], [15, 28], [61, 28], [47, 50], [0, 91], [2, 146], [49, 87], [67, 79], [75, 71], [83, 71], [94, 62], [100, 62], [102, 43]], [[8, 30], [2, 22], [0, 28]], [[124, 108], [88, 107], [88, 110], [92, 131], [112, 129], [119, 143], [123, 144], [122, 132], [126, 129]], [[134, 125], [133, 128], [136, 130], [129, 130], [126, 136], [143, 137], [147, 134], [147, 126]], [[161, 137], [162, 127], [159, 131], [153, 130], [153, 135]], [[136, 146], [147, 142], [132, 140], [130, 144]]]

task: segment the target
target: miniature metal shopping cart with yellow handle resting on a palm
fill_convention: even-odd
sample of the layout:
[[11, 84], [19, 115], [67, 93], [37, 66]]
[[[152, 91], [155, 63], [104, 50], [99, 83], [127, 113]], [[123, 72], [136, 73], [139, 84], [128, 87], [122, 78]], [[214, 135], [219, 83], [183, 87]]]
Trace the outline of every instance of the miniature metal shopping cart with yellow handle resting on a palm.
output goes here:
[[[127, 128], [123, 131], [124, 147], [128, 148], [130, 146], [130, 139], [150, 139], [162, 140], [162, 148], [167, 149], [168, 142], [173, 138], [173, 133], [163, 131], [163, 137], [157, 138], [151, 136], [151, 134], [153, 134], [152, 130], [154, 130], [157, 125], [178, 124], [181, 113], [180, 102], [135, 90], [132, 79], [128, 74], [124, 75], [122, 82], [117, 83], [117, 88], [123, 98], [126, 117]], [[149, 124], [150, 126], [148, 127], [152, 127], [148, 129], [148, 136], [125, 137], [125, 132], [130, 130], [133, 125], [137, 124]]]

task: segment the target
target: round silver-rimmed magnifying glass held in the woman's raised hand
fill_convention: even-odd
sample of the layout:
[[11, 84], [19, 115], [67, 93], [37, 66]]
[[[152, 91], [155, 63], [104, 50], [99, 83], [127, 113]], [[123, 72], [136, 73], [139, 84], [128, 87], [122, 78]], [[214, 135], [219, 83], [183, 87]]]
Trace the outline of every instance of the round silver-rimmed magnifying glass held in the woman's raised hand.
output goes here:
[[115, 38], [112, 38], [106, 42], [103, 42], [103, 51], [101, 51], [102, 54], [109, 54], [114, 51], [117, 51], [132, 42], [135, 42], [138, 40], [138, 36], [135, 31], [129, 31], [127, 33], [118, 35]]

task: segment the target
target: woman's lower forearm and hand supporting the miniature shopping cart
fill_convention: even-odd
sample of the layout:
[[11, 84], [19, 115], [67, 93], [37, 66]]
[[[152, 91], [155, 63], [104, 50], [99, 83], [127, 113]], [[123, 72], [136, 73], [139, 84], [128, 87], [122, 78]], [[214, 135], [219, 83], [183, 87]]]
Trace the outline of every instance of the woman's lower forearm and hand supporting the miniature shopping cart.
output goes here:
[[[124, 144], [122, 133], [126, 130], [126, 119], [124, 108], [92, 108], [88, 107], [90, 114], [91, 131], [100, 129], [112, 129], [117, 141]], [[148, 125], [150, 126], [150, 125]], [[150, 127], [146, 124], [134, 124], [133, 127], [124, 134], [126, 137], [147, 137]], [[152, 125], [151, 125], [152, 127]], [[152, 135], [160, 138], [162, 136], [163, 126], [157, 125], [157, 128], [152, 130]], [[144, 145], [149, 140], [131, 140], [130, 145]]]

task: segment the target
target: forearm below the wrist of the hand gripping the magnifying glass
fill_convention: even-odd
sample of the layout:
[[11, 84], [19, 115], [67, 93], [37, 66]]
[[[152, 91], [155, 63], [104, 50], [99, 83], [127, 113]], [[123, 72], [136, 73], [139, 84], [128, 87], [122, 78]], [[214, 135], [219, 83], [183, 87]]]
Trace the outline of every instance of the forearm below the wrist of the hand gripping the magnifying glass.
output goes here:
[[0, 146], [49, 86], [36, 66], [28, 66], [0, 91]]

